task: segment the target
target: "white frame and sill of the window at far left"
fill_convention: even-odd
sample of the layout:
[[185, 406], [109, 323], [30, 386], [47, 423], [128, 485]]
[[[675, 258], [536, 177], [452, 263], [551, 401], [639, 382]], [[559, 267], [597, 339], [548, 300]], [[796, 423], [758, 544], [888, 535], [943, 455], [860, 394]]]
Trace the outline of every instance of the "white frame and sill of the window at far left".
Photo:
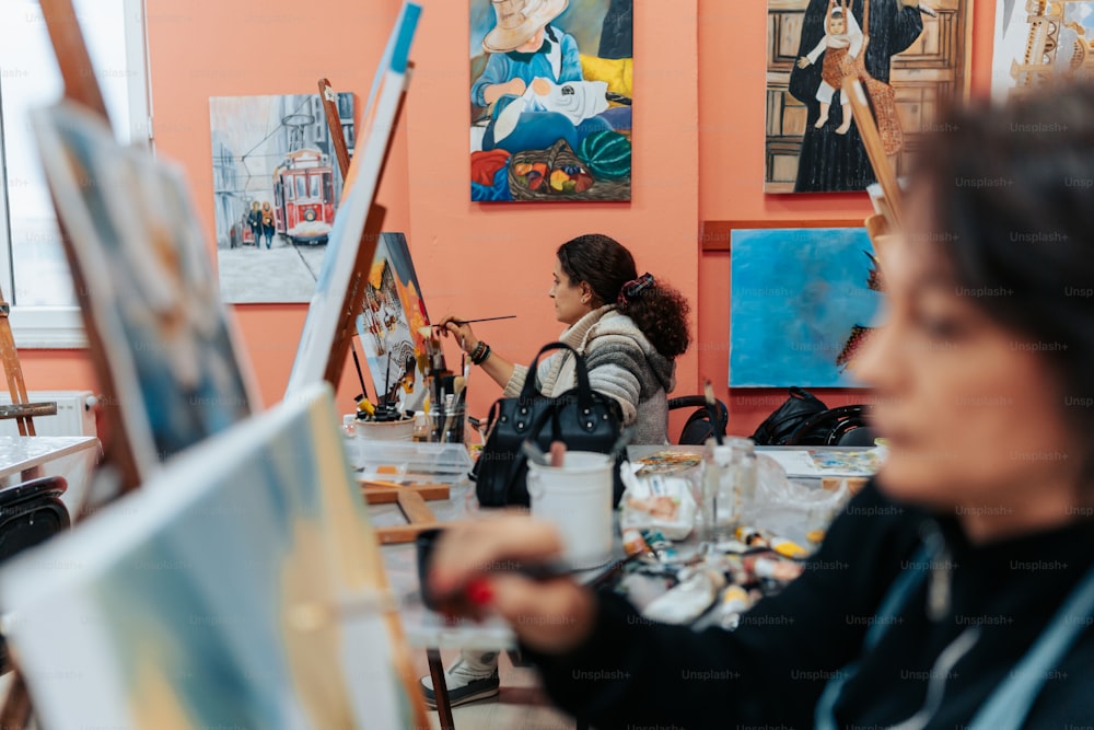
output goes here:
[[[148, 25], [144, 0], [124, 0], [126, 58], [137, 73], [129, 78], [130, 141], [152, 147], [152, 94], [148, 63]], [[143, 120], [143, 121], [141, 121]], [[11, 260], [5, 179], [0, 179], [0, 277], [5, 298], [14, 297], [15, 273]], [[84, 349], [88, 337], [79, 306], [12, 306], [9, 317], [19, 349]]]

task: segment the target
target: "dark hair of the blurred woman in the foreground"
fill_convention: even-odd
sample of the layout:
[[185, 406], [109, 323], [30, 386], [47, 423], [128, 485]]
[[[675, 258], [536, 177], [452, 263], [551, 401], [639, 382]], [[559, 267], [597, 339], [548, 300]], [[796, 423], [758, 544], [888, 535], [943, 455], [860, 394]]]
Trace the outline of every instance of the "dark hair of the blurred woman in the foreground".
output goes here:
[[939, 232], [927, 245], [961, 291], [985, 292], [973, 304], [1040, 347], [1063, 417], [1094, 432], [1094, 85], [954, 108], [938, 128], [915, 175]]

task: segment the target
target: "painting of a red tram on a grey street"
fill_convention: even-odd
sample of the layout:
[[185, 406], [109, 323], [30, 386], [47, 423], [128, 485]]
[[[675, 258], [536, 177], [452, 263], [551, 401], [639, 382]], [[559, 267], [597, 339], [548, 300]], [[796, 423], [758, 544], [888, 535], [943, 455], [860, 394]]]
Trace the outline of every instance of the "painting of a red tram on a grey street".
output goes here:
[[[353, 94], [337, 94], [353, 152]], [[224, 301], [306, 302], [342, 179], [318, 94], [213, 96], [217, 257]]]

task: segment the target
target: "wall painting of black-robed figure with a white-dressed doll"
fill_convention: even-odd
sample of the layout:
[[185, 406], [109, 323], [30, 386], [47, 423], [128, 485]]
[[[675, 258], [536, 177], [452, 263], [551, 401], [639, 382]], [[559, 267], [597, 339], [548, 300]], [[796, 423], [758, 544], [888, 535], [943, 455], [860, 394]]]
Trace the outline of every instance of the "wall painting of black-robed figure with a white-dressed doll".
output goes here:
[[[885, 152], [909, 169], [940, 108], [969, 86], [973, 0], [768, 0], [765, 193], [875, 182], [846, 76], [865, 76]], [[869, 53], [866, 53], [869, 49]]]

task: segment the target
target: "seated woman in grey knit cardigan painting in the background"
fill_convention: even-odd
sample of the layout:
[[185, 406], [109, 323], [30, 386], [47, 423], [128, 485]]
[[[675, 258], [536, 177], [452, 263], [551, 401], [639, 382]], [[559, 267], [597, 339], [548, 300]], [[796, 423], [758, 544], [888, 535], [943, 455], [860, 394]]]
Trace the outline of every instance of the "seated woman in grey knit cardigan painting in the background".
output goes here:
[[[636, 427], [635, 443], [667, 443], [668, 398], [676, 385], [676, 358], [688, 347], [688, 303], [652, 275], [638, 275], [630, 252], [606, 235], [580, 235], [558, 247], [548, 296], [567, 325], [559, 339], [580, 352], [594, 391], [618, 401], [625, 424]], [[504, 387], [520, 394], [529, 376], [475, 336], [461, 317], [440, 325], [462, 343], [472, 362]], [[532, 373], [545, 395], [561, 395], [577, 384], [573, 357], [558, 351]], [[497, 652], [463, 651], [445, 670], [452, 705], [498, 694]], [[433, 683], [422, 677], [426, 703], [434, 705]]]

